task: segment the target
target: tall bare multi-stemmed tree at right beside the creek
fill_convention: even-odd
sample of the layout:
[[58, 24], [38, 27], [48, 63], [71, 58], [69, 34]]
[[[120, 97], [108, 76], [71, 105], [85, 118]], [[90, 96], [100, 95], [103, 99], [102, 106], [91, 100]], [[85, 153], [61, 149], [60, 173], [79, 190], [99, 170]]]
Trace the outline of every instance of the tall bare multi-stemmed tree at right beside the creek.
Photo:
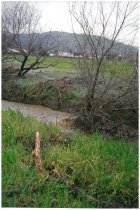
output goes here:
[[82, 2], [70, 5], [73, 31], [75, 32], [76, 20], [83, 34], [79, 40], [75, 33], [83, 55], [76, 65], [87, 89], [80, 116], [90, 129], [96, 126], [97, 118], [102, 118], [105, 122], [107, 118], [111, 118], [108, 113], [114, 108], [114, 104], [120, 105], [125, 96], [134, 95], [137, 68], [124, 78], [121, 72], [113, 69], [105, 72], [105, 60], [116, 41], [130, 37], [129, 34], [134, 31], [134, 22], [136, 30], [136, 10], [136, 2]]

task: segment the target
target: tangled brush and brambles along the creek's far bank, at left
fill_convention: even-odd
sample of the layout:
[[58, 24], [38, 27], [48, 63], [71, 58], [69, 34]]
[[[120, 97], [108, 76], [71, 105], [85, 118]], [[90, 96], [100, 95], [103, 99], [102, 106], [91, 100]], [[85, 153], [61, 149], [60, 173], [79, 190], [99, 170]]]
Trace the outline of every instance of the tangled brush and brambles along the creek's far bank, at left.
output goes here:
[[[24, 80], [24, 81], [23, 81]], [[30, 84], [23, 80], [3, 81], [2, 99], [29, 104], [42, 104], [53, 109], [65, 109], [73, 106], [76, 95], [67, 85], [59, 81]]]

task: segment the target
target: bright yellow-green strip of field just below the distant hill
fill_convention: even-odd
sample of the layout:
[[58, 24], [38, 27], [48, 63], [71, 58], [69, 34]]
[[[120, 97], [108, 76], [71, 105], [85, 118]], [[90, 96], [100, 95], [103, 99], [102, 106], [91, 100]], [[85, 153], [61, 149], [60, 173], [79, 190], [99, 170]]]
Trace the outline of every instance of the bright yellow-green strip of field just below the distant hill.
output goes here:
[[[21, 57], [20, 55], [17, 55], [18, 59]], [[19, 66], [19, 62], [17, 62], [12, 55], [9, 55], [9, 58], [11, 58], [9, 61], [13, 64], [16, 64], [17, 66]], [[21, 58], [20, 58], [21, 59]], [[35, 61], [35, 57], [34, 56], [30, 56], [28, 58], [28, 62], [27, 64], [32, 64]], [[82, 59], [80, 60], [80, 63], [82, 63]], [[75, 64], [77, 66], [77, 63], [79, 63], [79, 59], [78, 58], [58, 58], [58, 57], [46, 57], [43, 62], [39, 65], [40, 67], [45, 67], [45, 66], [49, 66], [50, 64], [54, 64], [56, 63], [56, 65], [54, 66], [55, 68], [51, 69], [51, 70], [56, 70], [58, 71], [60, 74], [61, 72], [64, 74], [65, 71], [68, 71], [68, 73], [70, 74], [74, 74], [75, 73]], [[84, 62], [83, 62], [84, 65]], [[87, 59], [86, 60], [86, 65], [85, 68], [87, 68], [87, 65], [91, 66], [91, 60]], [[96, 66], [96, 61], [94, 63], [94, 65]], [[133, 64], [127, 61], [117, 61], [117, 60], [104, 60], [103, 62], [103, 71], [107, 72], [107, 73], [121, 73], [121, 74], [129, 74], [132, 72], [133, 70]]]

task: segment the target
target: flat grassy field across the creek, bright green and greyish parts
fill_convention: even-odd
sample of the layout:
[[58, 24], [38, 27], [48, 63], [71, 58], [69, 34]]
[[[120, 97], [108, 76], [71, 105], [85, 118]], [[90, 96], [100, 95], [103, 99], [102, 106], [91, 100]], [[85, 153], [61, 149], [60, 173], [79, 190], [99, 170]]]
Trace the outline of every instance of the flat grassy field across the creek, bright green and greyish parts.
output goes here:
[[[11, 59], [13, 62], [13, 68], [14, 68], [14, 66], [18, 67], [19, 63], [17, 61], [15, 61], [13, 58], [11, 58]], [[55, 58], [55, 57], [46, 57], [46, 59], [40, 65], [47, 66], [51, 63], [54, 63], [57, 59], [58, 58]], [[16, 79], [15, 83], [19, 87], [19, 92], [21, 90], [21, 92], [23, 92], [23, 94], [25, 93], [25, 95], [27, 95], [27, 96], [28, 95], [31, 96], [32, 92], [33, 92], [32, 97], [34, 98], [34, 95], [35, 95], [34, 94], [34, 89], [35, 89], [34, 85], [36, 85], [40, 82], [46, 82], [49, 79], [52, 80], [52, 84], [53, 84], [53, 79], [61, 79], [64, 77], [69, 77], [72, 80], [75, 79], [75, 82], [74, 82], [74, 84], [71, 85], [71, 88], [68, 92], [71, 92], [75, 98], [84, 97], [86, 94], [86, 89], [85, 89], [83, 83], [78, 84], [78, 77], [80, 76], [80, 74], [79, 74], [79, 71], [75, 69], [75, 66], [73, 64], [73, 62], [77, 62], [78, 60], [76, 60], [74, 58], [71, 58], [71, 59], [70, 58], [59, 58], [59, 59], [60, 60], [56, 64], [55, 67], [30, 70], [27, 73], [26, 78], [19, 78], [18, 80]], [[28, 64], [29, 63], [31, 64], [32, 62], [34, 62], [34, 60], [35, 60], [35, 58], [33, 56], [30, 56], [29, 60], [28, 60]], [[9, 62], [9, 64], [10, 63], [11, 62]], [[91, 63], [91, 60], [87, 60], [87, 64], [89, 66], [90, 66], [90, 63]], [[85, 69], [86, 68], [87, 68], [87, 66], [85, 66]], [[106, 78], [110, 78], [110, 76], [112, 76], [112, 74], [114, 74], [114, 77], [116, 77], [116, 78], [118, 78], [119, 75], [121, 75], [121, 77], [124, 77], [124, 79], [125, 79], [125, 77], [128, 76], [132, 72], [132, 70], [133, 70], [133, 65], [128, 62], [124, 62], [124, 61], [105, 60], [103, 63], [103, 72], [105, 73]], [[102, 79], [102, 75], [100, 77], [99, 77], [99, 80]], [[77, 83], [76, 83], [76, 81], [77, 81]], [[118, 86], [122, 85], [122, 81], [121, 81], [121, 84], [119, 84], [119, 82], [120, 81], [118, 81]], [[67, 86], [67, 84], [65, 84], [65, 86]], [[31, 89], [33, 89], [33, 91]], [[9, 94], [9, 90], [8, 90], [8, 94]], [[57, 94], [57, 96], [58, 96], [58, 94]], [[30, 103], [29, 101], [27, 102], [26, 100], [25, 100], [25, 102]]]

